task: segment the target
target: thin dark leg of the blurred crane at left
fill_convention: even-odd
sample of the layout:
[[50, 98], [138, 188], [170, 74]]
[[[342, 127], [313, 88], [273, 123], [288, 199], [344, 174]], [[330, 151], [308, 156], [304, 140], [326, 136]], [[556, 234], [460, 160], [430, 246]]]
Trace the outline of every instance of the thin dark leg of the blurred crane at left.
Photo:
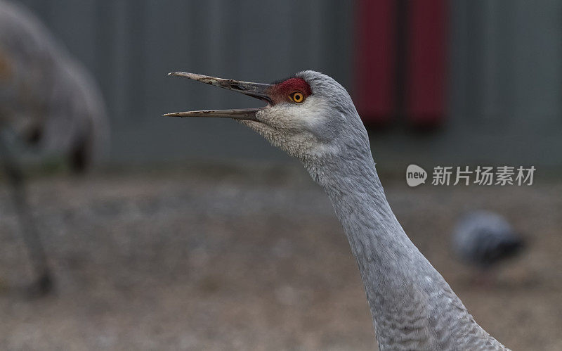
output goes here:
[[27, 203], [23, 172], [12, 155], [4, 136], [0, 136], [0, 153], [8, 181], [12, 188], [13, 204], [20, 221], [23, 242], [27, 247], [34, 274], [37, 277], [30, 286], [29, 293], [32, 297], [47, 295], [53, 290], [51, 270], [48, 267], [45, 250], [41, 243], [30, 205]]

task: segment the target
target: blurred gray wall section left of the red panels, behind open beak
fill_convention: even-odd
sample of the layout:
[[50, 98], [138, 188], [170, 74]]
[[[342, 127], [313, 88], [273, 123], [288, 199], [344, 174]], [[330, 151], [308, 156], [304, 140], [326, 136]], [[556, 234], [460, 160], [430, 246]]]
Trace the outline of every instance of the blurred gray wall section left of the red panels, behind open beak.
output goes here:
[[118, 161], [285, 160], [236, 122], [161, 117], [176, 110], [256, 106], [254, 99], [167, 72], [270, 82], [314, 68], [347, 85], [351, 77], [351, 2], [23, 2], [98, 77]]

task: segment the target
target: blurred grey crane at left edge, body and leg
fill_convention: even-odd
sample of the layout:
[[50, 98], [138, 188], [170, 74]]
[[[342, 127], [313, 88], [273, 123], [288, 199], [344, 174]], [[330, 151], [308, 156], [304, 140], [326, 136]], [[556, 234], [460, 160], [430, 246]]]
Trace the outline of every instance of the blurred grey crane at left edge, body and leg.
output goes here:
[[39, 294], [51, 290], [52, 277], [15, 148], [19, 143], [41, 155], [62, 153], [81, 172], [103, 152], [107, 132], [103, 98], [83, 65], [27, 9], [0, 0], [0, 156]]

